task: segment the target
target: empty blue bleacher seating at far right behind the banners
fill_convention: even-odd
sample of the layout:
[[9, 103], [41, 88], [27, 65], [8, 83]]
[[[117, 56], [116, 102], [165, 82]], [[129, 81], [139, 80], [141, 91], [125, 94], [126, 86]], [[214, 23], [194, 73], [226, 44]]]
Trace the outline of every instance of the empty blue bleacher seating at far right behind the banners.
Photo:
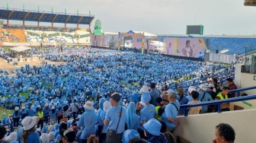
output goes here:
[[[158, 36], [158, 41], [164, 42], [165, 38], [188, 38], [188, 37], [175, 37], [175, 36]], [[190, 37], [190, 38], [203, 38], [204, 40], [210, 40], [210, 52], [216, 52], [216, 50], [229, 49], [226, 54], [244, 54], [245, 46], [252, 47], [250, 50], [254, 50], [256, 46], [256, 38], [242, 38], [242, 37]], [[209, 47], [208, 47], [209, 48]]]

